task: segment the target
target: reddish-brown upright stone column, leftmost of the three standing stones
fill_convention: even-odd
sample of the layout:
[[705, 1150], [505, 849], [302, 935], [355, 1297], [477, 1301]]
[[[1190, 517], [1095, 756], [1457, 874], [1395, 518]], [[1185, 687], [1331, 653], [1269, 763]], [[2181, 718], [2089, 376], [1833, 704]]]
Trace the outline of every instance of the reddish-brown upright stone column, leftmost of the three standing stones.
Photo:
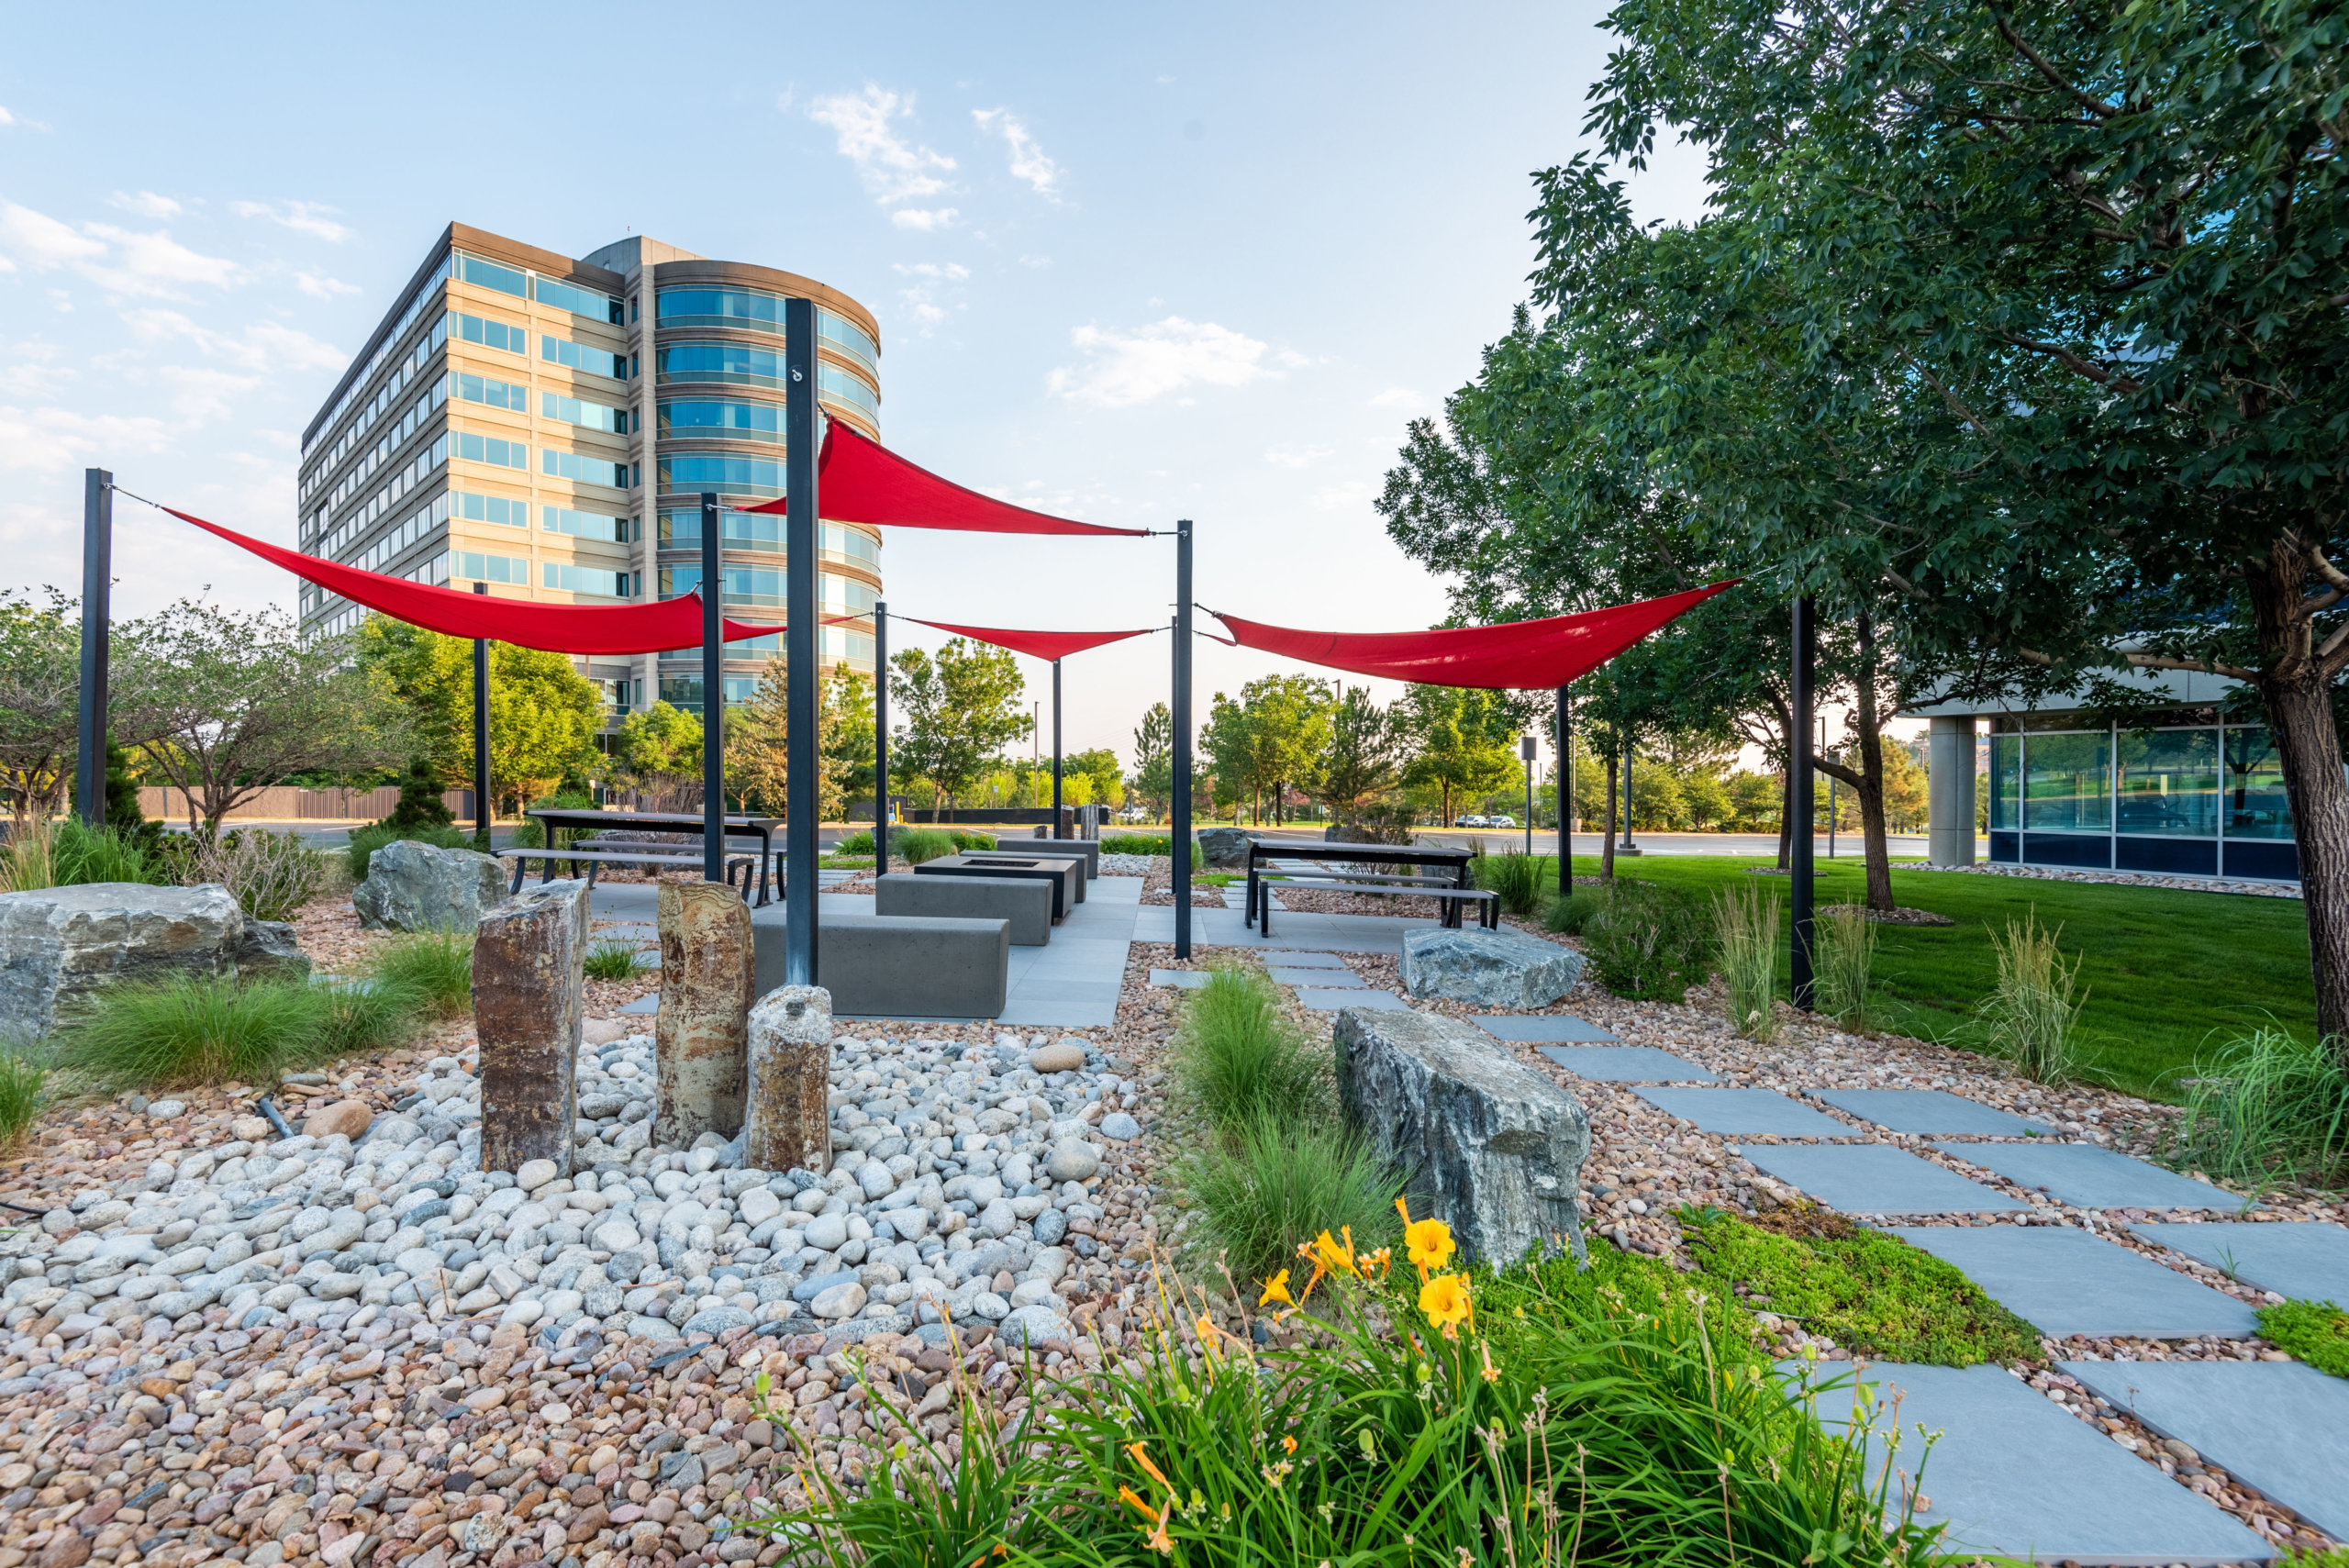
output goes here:
[[585, 1021], [587, 883], [540, 883], [482, 913], [472, 1033], [482, 1042], [482, 1169], [571, 1174]]

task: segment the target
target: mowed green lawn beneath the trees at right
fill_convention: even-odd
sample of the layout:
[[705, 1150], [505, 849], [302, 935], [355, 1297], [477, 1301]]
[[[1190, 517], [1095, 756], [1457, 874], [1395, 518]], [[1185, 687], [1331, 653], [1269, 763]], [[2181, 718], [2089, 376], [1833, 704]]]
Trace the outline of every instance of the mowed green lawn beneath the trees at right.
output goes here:
[[[1705, 899], [1724, 885], [1762, 883], [1778, 890], [1783, 908], [1785, 878], [1748, 876], [1748, 866], [1766, 864], [1656, 854], [1618, 861], [1616, 873], [1689, 887]], [[2178, 1099], [2173, 1080], [2192, 1068], [2196, 1054], [2239, 1030], [2281, 1023], [2300, 1038], [2316, 1033], [2300, 899], [1910, 866], [1914, 861], [1893, 861], [1893, 899], [1950, 915], [1957, 925], [1877, 927], [1884, 1028], [1968, 1045], [1973, 1007], [1999, 979], [1990, 932], [2004, 932], [2008, 920], [2037, 908], [2044, 925], [2062, 927], [2062, 951], [2079, 958], [2084, 1061], [2098, 1080]], [[1574, 871], [1595, 876], [1597, 857], [1576, 854]], [[1863, 894], [1860, 861], [1818, 861], [1820, 906], [1856, 904]], [[1792, 925], [1792, 915], [1785, 922]]]

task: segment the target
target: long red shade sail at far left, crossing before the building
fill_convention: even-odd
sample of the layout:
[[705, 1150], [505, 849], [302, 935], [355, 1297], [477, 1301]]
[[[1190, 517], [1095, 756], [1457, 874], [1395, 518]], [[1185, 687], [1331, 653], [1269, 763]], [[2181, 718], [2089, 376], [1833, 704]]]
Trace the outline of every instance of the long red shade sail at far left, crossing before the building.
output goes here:
[[[355, 566], [336, 566], [298, 549], [265, 545], [235, 528], [207, 523], [176, 507], [164, 507], [183, 523], [195, 523], [204, 533], [216, 533], [230, 545], [254, 552], [263, 561], [287, 568], [322, 589], [331, 589], [369, 610], [383, 610], [392, 620], [428, 627], [449, 636], [486, 636], [517, 648], [543, 648], [547, 653], [665, 653], [669, 648], [700, 648], [702, 601], [660, 599], [627, 606], [578, 606], [578, 603], [531, 603], [526, 599], [498, 599], [496, 594], [460, 594], [458, 589], [362, 573]], [[827, 620], [855, 620], [834, 615]], [[747, 620], [728, 620], [723, 638], [728, 643], [745, 636], [773, 636], [782, 627], [761, 627]]]

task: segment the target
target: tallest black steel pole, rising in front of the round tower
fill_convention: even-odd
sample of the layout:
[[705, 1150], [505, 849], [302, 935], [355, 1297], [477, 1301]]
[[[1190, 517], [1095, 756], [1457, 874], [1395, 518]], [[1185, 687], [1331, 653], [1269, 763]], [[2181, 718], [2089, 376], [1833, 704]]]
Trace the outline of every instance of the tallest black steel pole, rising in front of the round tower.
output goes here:
[[782, 354], [787, 361], [782, 401], [785, 495], [785, 721], [789, 723], [789, 777], [785, 782], [785, 934], [782, 981], [815, 984], [815, 458], [822, 418], [815, 408], [815, 300], [782, 305]]

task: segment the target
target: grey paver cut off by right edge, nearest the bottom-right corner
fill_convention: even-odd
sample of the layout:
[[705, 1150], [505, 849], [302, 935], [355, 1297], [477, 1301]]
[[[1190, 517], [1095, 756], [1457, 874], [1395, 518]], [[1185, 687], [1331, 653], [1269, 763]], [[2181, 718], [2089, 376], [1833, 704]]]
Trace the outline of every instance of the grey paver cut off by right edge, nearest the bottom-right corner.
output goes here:
[[2349, 1383], [2300, 1361], [2058, 1361], [2203, 1465], [2349, 1537]]

